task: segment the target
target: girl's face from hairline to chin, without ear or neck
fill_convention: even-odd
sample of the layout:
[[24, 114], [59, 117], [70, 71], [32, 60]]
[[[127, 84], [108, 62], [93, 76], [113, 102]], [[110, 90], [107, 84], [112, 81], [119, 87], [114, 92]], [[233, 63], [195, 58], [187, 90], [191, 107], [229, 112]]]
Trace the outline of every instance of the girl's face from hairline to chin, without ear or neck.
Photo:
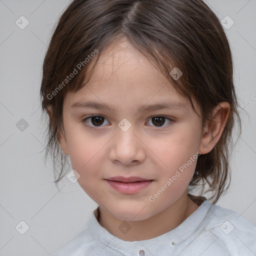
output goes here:
[[[112, 110], [72, 106], [88, 101]], [[180, 106], [138, 111], [141, 105], [174, 102]], [[98, 117], [84, 120], [92, 114]], [[60, 143], [80, 175], [79, 184], [113, 216], [146, 219], [186, 193], [201, 147], [201, 121], [189, 101], [126, 41], [108, 47], [90, 81], [66, 94], [63, 124]], [[115, 176], [151, 181], [140, 190], [127, 183], [116, 190], [107, 181]]]

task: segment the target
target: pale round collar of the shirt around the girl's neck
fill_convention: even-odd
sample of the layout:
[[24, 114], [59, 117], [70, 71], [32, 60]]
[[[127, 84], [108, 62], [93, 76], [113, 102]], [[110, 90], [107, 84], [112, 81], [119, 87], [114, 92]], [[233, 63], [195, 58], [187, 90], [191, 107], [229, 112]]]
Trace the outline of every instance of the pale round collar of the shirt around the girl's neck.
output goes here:
[[[91, 213], [88, 220], [88, 230], [93, 239], [101, 243], [102, 247], [109, 247], [114, 251], [129, 255], [151, 255], [159, 253], [159, 246], [163, 244], [170, 252], [171, 248], [177, 247], [184, 242], [187, 237], [197, 235], [200, 225], [207, 215], [211, 203], [205, 200], [190, 216], [188, 216], [176, 228], [159, 235], [157, 237], [141, 241], [125, 241], [109, 233], [97, 220], [98, 207]], [[162, 247], [161, 247], [162, 248]], [[164, 250], [164, 248], [162, 248]], [[139, 251], [141, 250], [141, 254]], [[158, 250], [158, 251], [157, 251]], [[144, 252], [143, 252], [144, 251]], [[149, 252], [151, 253], [149, 253]], [[144, 254], [143, 254], [144, 253]]]

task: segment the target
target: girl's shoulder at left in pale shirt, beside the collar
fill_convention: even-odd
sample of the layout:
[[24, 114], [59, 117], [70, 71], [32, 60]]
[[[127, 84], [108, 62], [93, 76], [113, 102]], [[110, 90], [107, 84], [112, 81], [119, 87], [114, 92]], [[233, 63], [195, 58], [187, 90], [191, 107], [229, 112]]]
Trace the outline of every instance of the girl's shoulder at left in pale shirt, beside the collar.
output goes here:
[[[88, 228], [82, 230], [77, 236], [61, 246], [52, 256], [80, 256], [85, 251], [94, 247], [94, 240]], [[92, 254], [93, 255], [93, 254]]]

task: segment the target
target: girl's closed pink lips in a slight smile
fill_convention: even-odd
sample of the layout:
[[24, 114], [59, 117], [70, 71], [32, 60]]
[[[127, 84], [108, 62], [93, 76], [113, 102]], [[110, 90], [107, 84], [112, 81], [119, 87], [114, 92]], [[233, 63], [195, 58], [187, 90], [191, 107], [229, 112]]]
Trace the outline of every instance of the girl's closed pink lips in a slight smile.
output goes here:
[[108, 184], [112, 186], [115, 190], [126, 193], [132, 194], [140, 191], [141, 189], [148, 186], [153, 180], [152, 179], [145, 179], [140, 177], [112, 177], [106, 179]]

